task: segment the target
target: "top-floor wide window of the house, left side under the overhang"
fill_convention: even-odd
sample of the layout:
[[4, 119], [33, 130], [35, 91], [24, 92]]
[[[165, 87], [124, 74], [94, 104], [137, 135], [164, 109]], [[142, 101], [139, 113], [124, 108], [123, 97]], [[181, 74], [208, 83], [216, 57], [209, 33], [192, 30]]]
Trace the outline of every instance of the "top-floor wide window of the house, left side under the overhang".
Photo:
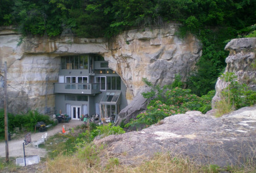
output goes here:
[[61, 69], [88, 69], [89, 55], [61, 57]]

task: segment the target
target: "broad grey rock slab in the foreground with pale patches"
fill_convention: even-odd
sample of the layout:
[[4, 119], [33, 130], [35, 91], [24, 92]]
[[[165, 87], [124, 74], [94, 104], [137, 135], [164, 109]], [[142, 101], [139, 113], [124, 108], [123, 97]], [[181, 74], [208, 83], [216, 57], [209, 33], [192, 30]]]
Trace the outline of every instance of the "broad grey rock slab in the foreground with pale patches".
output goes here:
[[94, 140], [107, 146], [105, 157], [122, 164], [139, 164], [156, 152], [187, 156], [196, 163], [224, 167], [256, 161], [256, 106], [244, 107], [221, 118], [199, 111], [169, 116], [141, 131]]

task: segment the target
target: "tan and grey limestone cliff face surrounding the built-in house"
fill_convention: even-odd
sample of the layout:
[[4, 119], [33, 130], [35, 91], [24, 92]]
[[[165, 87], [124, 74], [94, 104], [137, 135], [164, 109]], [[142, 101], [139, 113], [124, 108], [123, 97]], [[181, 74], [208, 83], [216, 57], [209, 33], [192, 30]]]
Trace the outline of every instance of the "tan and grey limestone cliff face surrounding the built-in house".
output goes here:
[[[136, 29], [110, 41], [25, 37], [22, 42], [21, 35], [13, 29], [0, 28], [0, 64], [6, 61], [8, 65], [9, 111], [44, 112], [45, 106], [54, 111], [53, 83], [57, 82], [62, 55], [102, 55], [125, 82], [128, 103], [144, 91], [142, 77], [160, 85], [170, 84], [175, 74], [185, 80], [202, 54], [202, 45], [192, 35], [184, 39], [175, 36], [177, 28], [177, 24], [170, 24], [164, 28]], [[2, 91], [0, 88], [1, 101]]]

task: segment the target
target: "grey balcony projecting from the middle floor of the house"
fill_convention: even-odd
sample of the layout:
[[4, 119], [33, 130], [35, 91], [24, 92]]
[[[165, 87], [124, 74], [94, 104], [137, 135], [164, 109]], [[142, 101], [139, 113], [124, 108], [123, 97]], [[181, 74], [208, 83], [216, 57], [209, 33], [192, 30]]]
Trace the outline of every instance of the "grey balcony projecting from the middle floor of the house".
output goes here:
[[88, 83], [88, 84], [65, 84], [65, 83], [55, 83], [54, 93], [74, 93], [74, 94], [86, 94], [93, 95], [100, 93], [99, 83]]

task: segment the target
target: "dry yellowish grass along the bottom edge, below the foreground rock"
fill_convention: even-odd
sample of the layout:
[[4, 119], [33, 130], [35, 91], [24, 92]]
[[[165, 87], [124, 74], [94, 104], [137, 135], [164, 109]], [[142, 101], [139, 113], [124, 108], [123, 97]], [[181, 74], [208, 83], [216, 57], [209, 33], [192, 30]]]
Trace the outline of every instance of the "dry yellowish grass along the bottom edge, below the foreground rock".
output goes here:
[[[100, 157], [98, 156], [98, 159]], [[72, 164], [67, 164], [72, 163]], [[167, 153], [156, 153], [149, 161], [137, 166], [126, 166], [119, 163], [116, 157], [110, 157], [103, 167], [101, 161], [88, 164], [86, 160], [79, 159], [77, 155], [60, 155], [54, 160], [46, 161], [46, 172], [256, 172], [255, 164], [246, 167], [226, 167], [220, 168], [217, 165], [198, 165], [191, 160], [182, 157], [171, 157]]]

